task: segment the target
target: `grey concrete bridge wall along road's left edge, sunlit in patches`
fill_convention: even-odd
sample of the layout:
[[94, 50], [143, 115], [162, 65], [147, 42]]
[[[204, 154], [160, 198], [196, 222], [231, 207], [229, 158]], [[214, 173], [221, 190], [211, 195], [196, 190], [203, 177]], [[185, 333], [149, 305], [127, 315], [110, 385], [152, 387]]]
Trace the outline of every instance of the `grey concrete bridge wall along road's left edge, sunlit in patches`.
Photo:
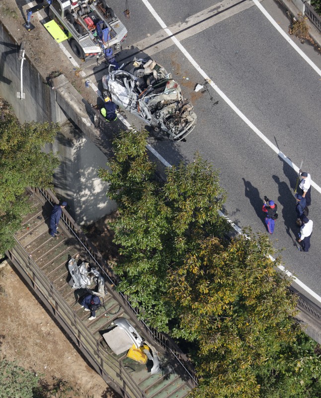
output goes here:
[[46, 149], [58, 152], [61, 165], [55, 170], [55, 193], [66, 199], [69, 212], [78, 224], [89, 224], [111, 213], [116, 204], [106, 198], [108, 185], [97, 177], [105, 167], [107, 149], [90, 121], [88, 105], [63, 76], [54, 80], [53, 90], [25, 54], [23, 92], [20, 92], [20, 65], [16, 43], [0, 23], [0, 96], [12, 104], [20, 122], [53, 121], [62, 124], [62, 133]]

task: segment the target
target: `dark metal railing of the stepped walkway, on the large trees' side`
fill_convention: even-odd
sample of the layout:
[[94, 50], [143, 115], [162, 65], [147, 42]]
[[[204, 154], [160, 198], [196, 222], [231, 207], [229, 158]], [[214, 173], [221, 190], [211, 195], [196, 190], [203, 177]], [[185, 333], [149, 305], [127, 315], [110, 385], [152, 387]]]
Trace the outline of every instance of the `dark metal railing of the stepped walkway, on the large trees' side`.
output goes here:
[[[39, 188], [34, 188], [33, 192], [40, 195], [46, 201], [49, 201], [51, 204], [58, 203], [58, 199], [50, 190], [42, 190]], [[107, 278], [108, 282], [111, 285], [117, 286], [118, 279], [112, 272], [111, 268], [109, 267], [108, 263], [103, 259], [101, 253], [93, 246], [93, 244], [88, 240], [88, 238], [84, 235], [81, 231], [80, 227], [76, 224], [76, 221], [71, 217], [71, 215], [63, 208], [62, 209], [62, 221], [68, 227], [68, 229], [75, 235], [78, 239], [80, 245], [86, 250], [86, 252], [91, 257], [92, 261], [95, 262], [96, 266], [99, 267], [101, 273]], [[122, 301], [124, 309], [130, 311], [131, 315], [134, 315], [135, 318], [139, 316], [139, 308], [135, 308], [130, 303], [130, 298], [127, 295], [124, 295], [121, 292], [110, 292], [114, 297], [117, 295], [117, 299], [119, 298]], [[182, 369], [186, 373], [186, 377], [188, 378], [189, 385], [194, 388], [197, 386], [197, 378], [195, 375], [195, 370], [192, 367], [192, 364], [187, 359], [186, 355], [179, 349], [179, 347], [174, 343], [174, 341], [167, 336], [165, 333], [159, 332], [157, 329], [148, 326], [143, 320], [137, 319], [140, 326], [143, 328], [145, 333], [151, 337], [154, 341], [156, 341], [165, 351], [170, 353], [176, 361], [180, 364]]]

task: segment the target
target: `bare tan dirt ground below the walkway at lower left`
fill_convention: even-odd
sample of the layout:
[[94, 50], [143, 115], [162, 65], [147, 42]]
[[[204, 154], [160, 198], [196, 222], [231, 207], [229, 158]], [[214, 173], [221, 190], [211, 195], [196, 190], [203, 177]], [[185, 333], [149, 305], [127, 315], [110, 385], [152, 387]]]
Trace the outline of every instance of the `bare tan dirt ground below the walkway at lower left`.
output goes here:
[[[73, 388], [66, 398], [117, 398], [9, 265], [0, 269], [0, 358]], [[8, 397], [9, 398], [9, 397]]]

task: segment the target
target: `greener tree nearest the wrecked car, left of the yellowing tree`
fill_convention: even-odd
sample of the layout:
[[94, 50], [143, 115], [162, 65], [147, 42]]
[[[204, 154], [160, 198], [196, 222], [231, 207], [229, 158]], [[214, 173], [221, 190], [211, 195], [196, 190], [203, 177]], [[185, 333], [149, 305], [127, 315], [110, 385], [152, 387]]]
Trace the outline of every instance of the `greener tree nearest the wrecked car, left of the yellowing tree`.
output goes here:
[[227, 222], [218, 209], [225, 200], [218, 173], [196, 156], [190, 165], [167, 170], [166, 184], [154, 177], [146, 151], [147, 132], [121, 132], [114, 141], [111, 174], [99, 175], [110, 183], [108, 195], [119, 204], [114, 241], [123, 261], [115, 272], [122, 277], [119, 289], [130, 295], [144, 317], [168, 331], [172, 308], [164, 296], [167, 270], [182, 261], [195, 237], [222, 234]]

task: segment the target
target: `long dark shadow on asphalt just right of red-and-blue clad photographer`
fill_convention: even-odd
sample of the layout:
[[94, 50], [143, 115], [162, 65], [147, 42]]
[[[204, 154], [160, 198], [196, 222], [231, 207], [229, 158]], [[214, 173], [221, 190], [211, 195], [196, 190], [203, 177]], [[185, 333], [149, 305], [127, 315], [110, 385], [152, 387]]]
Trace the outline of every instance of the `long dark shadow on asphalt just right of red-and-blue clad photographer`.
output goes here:
[[[285, 225], [285, 230], [286, 233], [290, 236], [290, 238], [293, 241], [293, 245], [296, 246], [296, 237], [299, 232], [299, 228], [295, 223], [296, 220], [296, 211], [295, 211], [295, 205], [296, 205], [296, 200], [292, 194], [292, 190], [289, 188], [288, 184], [286, 182], [281, 182], [278, 176], [273, 175], [272, 176], [273, 180], [276, 182], [278, 185], [278, 190], [279, 190], [279, 197], [278, 197], [278, 203], [279, 203], [279, 209], [282, 208], [282, 218], [284, 220], [284, 225]], [[294, 238], [291, 234], [291, 232], [294, 235]]]

